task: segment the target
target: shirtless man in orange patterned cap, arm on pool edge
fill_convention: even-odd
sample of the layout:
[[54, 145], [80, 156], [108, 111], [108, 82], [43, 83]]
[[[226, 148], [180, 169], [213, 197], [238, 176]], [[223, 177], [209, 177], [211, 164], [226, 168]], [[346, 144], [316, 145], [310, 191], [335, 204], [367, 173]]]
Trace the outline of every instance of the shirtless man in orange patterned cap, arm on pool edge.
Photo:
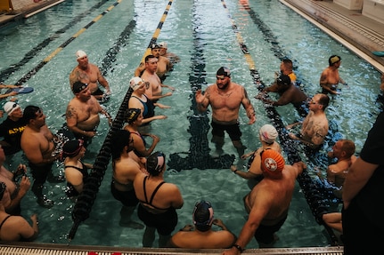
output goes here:
[[297, 162], [287, 165], [282, 155], [273, 149], [266, 149], [262, 153], [261, 162], [264, 179], [244, 197], [249, 218], [236, 243], [223, 255], [240, 254], [252, 235], [260, 248], [272, 247], [277, 240], [274, 233], [287, 219], [296, 179], [306, 164]]

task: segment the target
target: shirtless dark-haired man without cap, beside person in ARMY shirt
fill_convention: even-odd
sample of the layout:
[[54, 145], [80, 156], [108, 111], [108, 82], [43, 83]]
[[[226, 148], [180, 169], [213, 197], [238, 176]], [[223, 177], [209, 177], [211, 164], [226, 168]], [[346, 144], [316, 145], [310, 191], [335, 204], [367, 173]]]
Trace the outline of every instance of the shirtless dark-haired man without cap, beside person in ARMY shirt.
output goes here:
[[54, 154], [56, 145], [53, 140], [55, 137], [45, 124], [43, 110], [36, 106], [28, 106], [24, 109], [23, 117], [27, 126], [22, 132], [20, 145], [28, 158], [34, 179], [32, 192], [37, 196], [38, 204], [51, 208], [53, 201], [43, 195], [43, 187], [46, 179], [50, 182], [65, 180], [62, 176], [53, 178], [52, 173], [53, 162], [59, 159], [61, 155]]

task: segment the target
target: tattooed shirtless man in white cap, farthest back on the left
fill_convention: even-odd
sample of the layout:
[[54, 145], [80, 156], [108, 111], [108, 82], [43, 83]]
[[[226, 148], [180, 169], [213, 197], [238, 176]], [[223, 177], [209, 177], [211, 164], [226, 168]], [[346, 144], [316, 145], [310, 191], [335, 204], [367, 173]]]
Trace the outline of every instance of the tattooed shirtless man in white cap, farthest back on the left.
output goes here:
[[[106, 99], [110, 95], [110, 84], [102, 76], [100, 69], [88, 62], [86, 52], [78, 51], [76, 52], [76, 57], [78, 66], [69, 75], [70, 89], [73, 89], [73, 84], [76, 82], [82, 82], [88, 84], [89, 90], [96, 100]], [[98, 84], [105, 88], [105, 93], [102, 92]]]

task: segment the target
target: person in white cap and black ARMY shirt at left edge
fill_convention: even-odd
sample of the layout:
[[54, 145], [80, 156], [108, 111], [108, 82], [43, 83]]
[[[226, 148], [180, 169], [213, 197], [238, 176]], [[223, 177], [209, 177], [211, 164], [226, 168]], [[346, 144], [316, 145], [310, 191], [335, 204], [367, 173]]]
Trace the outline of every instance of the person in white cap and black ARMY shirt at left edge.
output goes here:
[[0, 124], [0, 136], [4, 138], [0, 141], [0, 145], [5, 155], [13, 155], [21, 150], [21, 134], [27, 122], [22, 117], [22, 110], [18, 103], [6, 102], [3, 108], [7, 118]]

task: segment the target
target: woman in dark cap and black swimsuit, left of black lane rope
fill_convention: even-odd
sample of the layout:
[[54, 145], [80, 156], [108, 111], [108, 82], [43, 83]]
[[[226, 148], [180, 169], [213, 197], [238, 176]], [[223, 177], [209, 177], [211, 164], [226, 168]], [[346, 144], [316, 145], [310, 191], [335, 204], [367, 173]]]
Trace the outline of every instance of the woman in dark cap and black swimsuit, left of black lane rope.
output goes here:
[[86, 147], [83, 146], [81, 139], [69, 140], [62, 147], [62, 156], [65, 158], [65, 179], [67, 179], [65, 193], [68, 197], [76, 197], [83, 191], [84, 182], [88, 177], [88, 168], [94, 167], [90, 163], [80, 161], [85, 153]]

